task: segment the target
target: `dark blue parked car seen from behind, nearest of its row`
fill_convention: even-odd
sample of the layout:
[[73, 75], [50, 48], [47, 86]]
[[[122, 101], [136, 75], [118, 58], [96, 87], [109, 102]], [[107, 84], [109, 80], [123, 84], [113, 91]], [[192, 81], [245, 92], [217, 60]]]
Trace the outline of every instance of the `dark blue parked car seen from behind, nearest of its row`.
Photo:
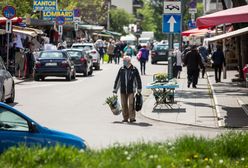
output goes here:
[[68, 81], [76, 78], [74, 64], [65, 51], [42, 51], [40, 53], [35, 62], [34, 80], [45, 80], [47, 76], [65, 77]]

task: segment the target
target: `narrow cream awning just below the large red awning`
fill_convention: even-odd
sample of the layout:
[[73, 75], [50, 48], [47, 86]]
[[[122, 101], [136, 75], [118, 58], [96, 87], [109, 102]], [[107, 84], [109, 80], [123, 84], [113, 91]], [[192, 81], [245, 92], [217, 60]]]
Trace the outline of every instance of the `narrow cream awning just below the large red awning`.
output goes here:
[[243, 34], [248, 34], [248, 27], [242, 28], [242, 29], [239, 29], [239, 30], [235, 30], [235, 31], [232, 31], [232, 32], [229, 32], [229, 33], [225, 33], [225, 34], [222, 34], [222, 35], [214, 36], [214, 37], [211, 37], [211, 38], [205, 38], [204, 41], [215, 42], [215, 41], [225, 39], [225, 38], [241, 36]]

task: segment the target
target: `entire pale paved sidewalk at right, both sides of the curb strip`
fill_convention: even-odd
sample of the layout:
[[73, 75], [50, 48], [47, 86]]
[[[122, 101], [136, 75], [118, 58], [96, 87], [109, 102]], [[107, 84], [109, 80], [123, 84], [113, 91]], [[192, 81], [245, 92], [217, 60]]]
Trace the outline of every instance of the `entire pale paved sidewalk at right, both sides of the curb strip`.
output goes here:
[[[215, 83], [214, 72], [199, 78], [197, 89], [187, 87], [187, 69], [183, 68], [180, 87], [176, 89], [173, 109], [164, 105], [155, 109], [151, 94], [145, 101], [142, 114], [148, 118], [202, 127], [248, 127], [248, 88], [232, 82], [237, 71], [228, 71], [228, 79]], [[152, 79], [151, 79], [152, 81]]]

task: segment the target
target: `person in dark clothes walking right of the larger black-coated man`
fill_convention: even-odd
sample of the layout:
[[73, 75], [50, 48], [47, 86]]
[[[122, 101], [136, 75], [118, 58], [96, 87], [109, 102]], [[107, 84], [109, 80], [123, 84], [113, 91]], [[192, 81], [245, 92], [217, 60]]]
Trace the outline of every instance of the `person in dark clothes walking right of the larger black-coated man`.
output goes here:
[[222, 46], [218, 45], [217, 50], [212, 55], [213, 67], [215, 71], [215, 82], [221, 82], [221, 70], [223, 65], [226, 66], [224, 53]]

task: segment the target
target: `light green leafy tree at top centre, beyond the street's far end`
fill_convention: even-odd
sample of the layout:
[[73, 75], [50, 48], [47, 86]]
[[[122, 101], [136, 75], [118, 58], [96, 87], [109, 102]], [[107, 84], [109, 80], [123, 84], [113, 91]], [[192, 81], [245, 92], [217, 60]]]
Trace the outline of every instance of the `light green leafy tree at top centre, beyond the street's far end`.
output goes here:
[[111, 9], [110, 11], [110, 29], [112, 31], [125, 34], [123, 26], [128, 26], [134, 22], [134, 16], [123, 9]]

